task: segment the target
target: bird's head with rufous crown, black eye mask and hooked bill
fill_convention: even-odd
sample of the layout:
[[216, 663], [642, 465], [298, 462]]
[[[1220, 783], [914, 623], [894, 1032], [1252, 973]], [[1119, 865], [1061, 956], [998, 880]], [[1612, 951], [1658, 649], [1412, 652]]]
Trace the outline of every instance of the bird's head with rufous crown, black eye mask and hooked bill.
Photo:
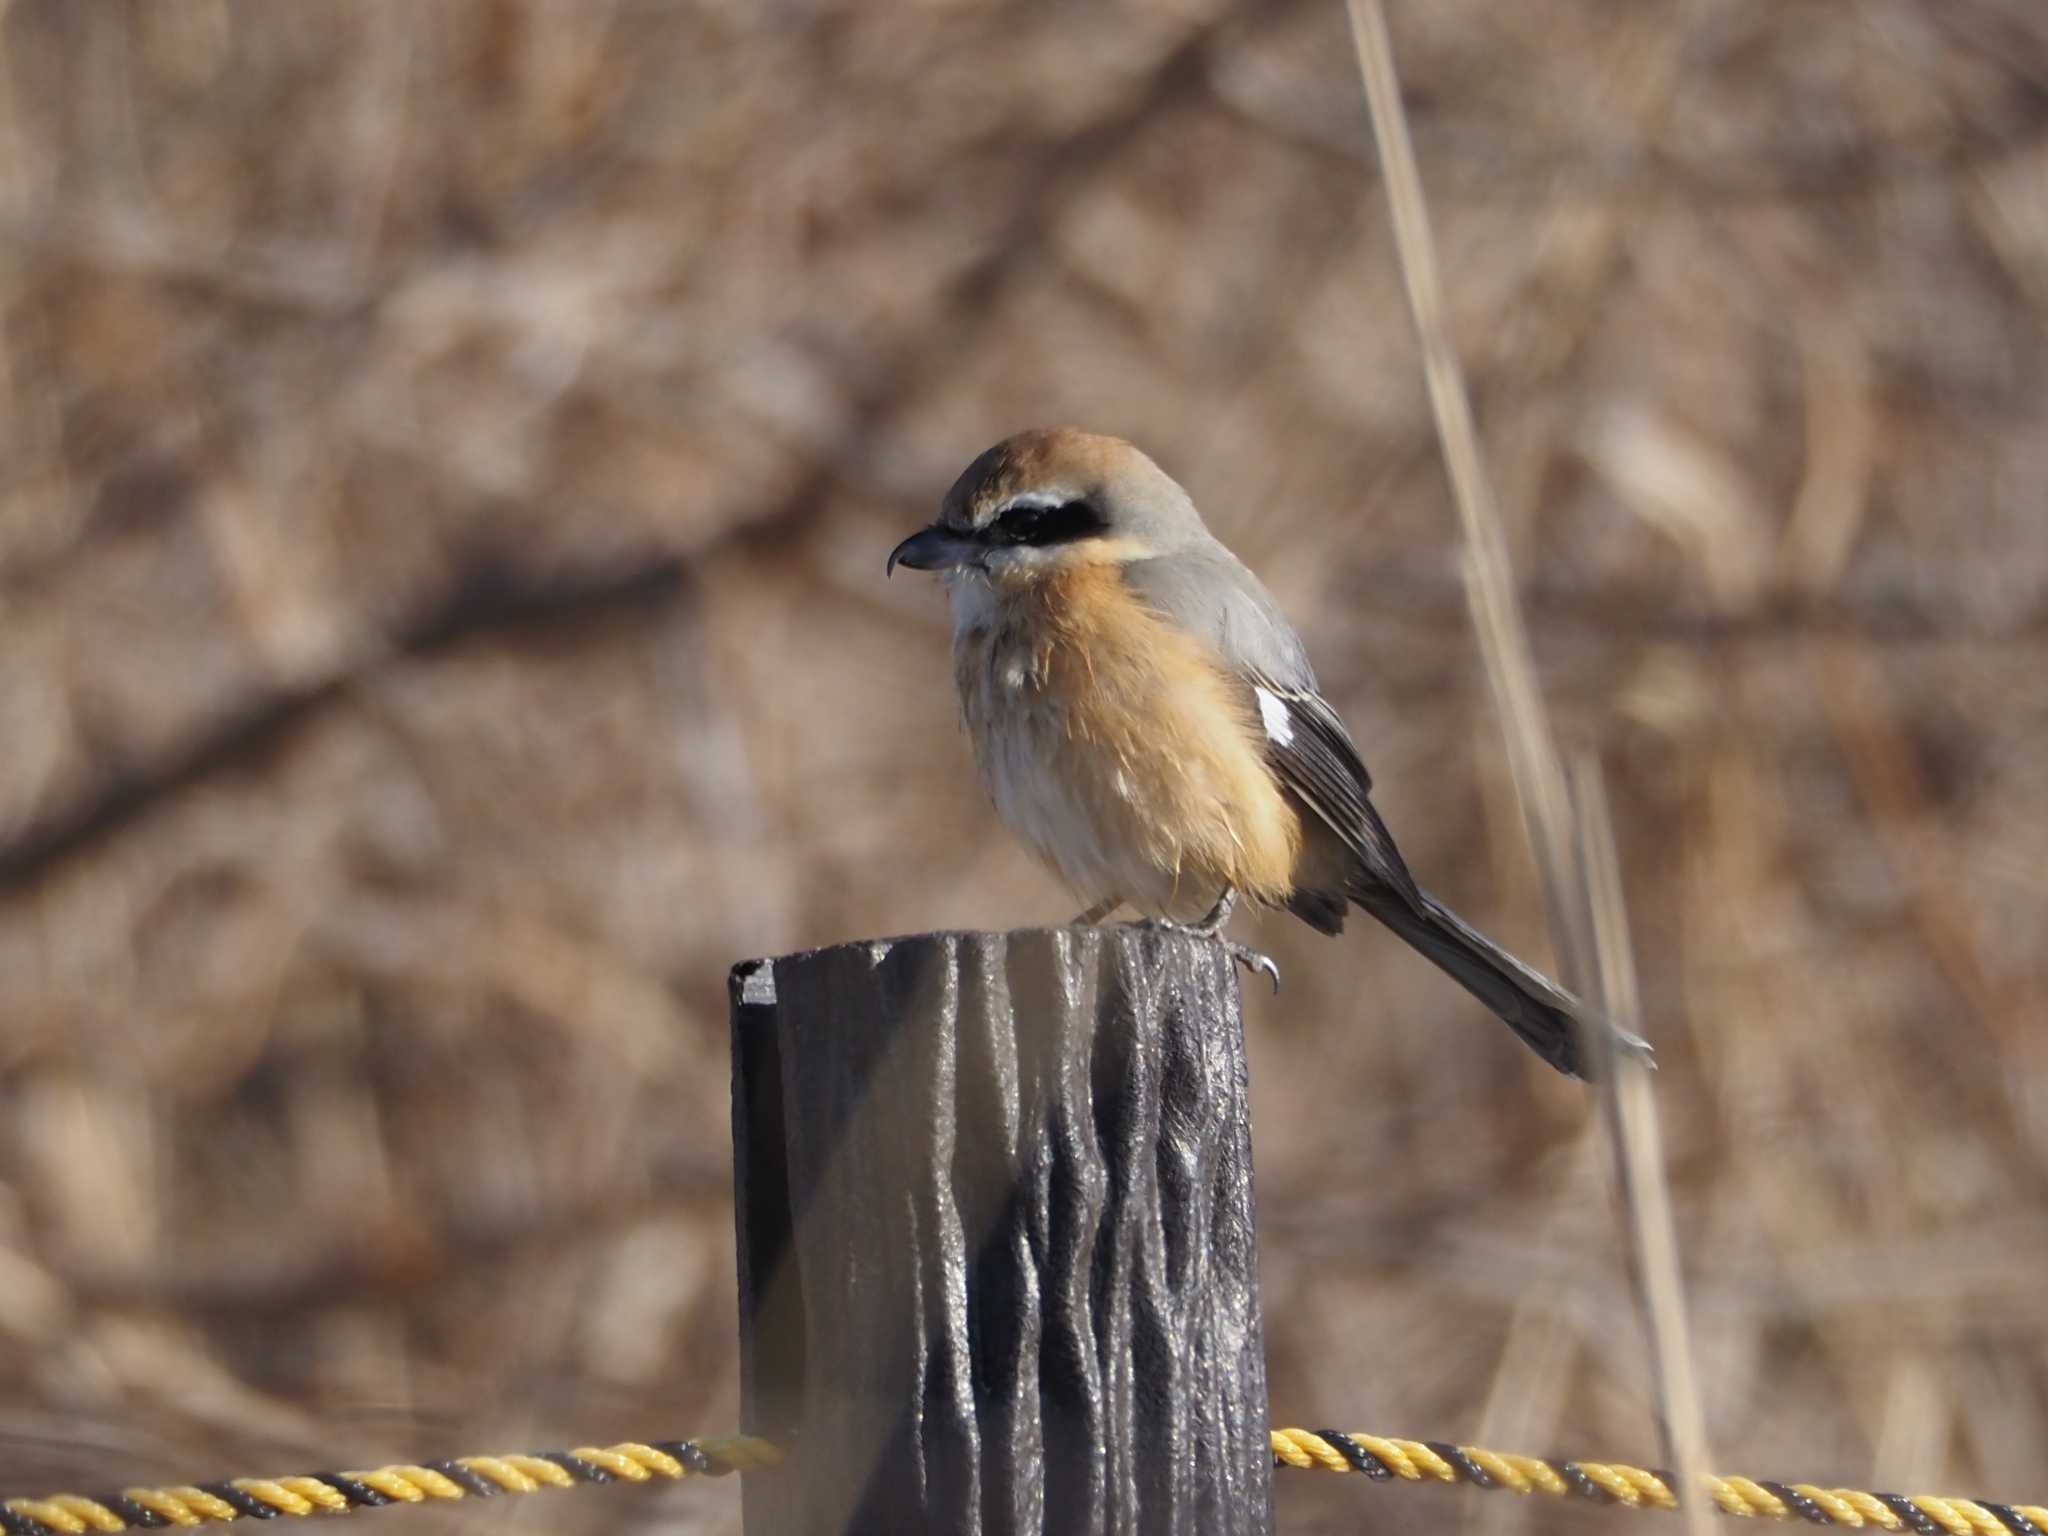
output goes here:
[[891, 551], [889, 569], [1016, 588], [1206, 537], [1188, 492], [1122, 438], [1034, 428], [975, 459], [952, 481], [938, 520]]

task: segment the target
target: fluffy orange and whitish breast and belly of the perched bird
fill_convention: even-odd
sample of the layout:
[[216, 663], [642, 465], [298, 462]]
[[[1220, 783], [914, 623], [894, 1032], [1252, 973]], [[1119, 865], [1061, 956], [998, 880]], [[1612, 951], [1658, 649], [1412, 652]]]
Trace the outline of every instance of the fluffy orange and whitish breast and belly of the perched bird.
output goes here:
[[1251, 692], [1112, 563], [956, 590], [954, 672], [997, 813], [1087, 899], [1292, 891], [1300, 819]]

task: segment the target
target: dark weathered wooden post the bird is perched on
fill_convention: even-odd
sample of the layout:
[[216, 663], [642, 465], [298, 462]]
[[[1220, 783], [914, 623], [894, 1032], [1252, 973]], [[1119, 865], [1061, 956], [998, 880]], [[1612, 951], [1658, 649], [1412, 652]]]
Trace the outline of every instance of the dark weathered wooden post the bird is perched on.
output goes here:
[[748, 1536], [1266, 1536], [1237, 977], [1141, 928], [733, 969]]

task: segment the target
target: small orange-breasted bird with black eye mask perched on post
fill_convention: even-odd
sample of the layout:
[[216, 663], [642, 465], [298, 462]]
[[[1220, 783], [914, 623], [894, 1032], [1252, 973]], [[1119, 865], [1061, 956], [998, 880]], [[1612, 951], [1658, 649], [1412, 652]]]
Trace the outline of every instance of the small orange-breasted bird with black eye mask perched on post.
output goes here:
[[885, 573], [899, 565], [944, 578], [989, 799], [1090, 901], [1077, 924], [1130, 905], [1219, 938], [1278, 985], [1270, 958], [1223, 938], [1239, 899], [1323, 934], [1358, 907], [1546, 1063], [1587, 1075], [1587, 1010], [1415, 881], [1294, 627], [1143, 451], [1079, 428], [1016, 432]]

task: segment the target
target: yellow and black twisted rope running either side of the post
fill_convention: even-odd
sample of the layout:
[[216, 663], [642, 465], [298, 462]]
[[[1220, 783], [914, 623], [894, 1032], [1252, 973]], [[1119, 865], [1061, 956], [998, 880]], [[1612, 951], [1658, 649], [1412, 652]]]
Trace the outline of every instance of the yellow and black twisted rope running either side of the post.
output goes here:
[[[1274, 1430], [1274, 1462], [1323, 1473], [1364, 1473], [1374, 1481], [1466, 1483], [1509, 1493], [1548, 1493], [1628, 1509], [1675, 1509], [1669, 1475], [1626, 1462], [1573, 1462], [1518, 1456], [1483, 1446], [1393, 1440], [1339, 1430]], [[301, 1477], [238, 1477], [207, 1487], [123, 1489], [84, 1499], [55, 1493], [47, 1499], [0, 1501], [0, 1536], [115, 1536], [115, 1532], [199, 1526], [244, 1516], [344, 1513], [381, 1503], [539, 1493], [580, 1483], [647, 1483], [686, 1477], [723, 1477], [774, 1466], [782, 1452], [766, 1440], [668, 1440], [616, 1446], [580, 1446], [541, 1454], [459, 1456], [418, 1466], [397, 1462], [362, 1473]], [[1708, 1477], [1702, 1491], [1722, 1513], [1763, 1520], [1806, 1520], [1817, 1526], [1853, 1526], [1915, 1536], [2048, 1536], [2048, 1505], [1978, 1503], [1929, 1495], [1823, 1489], [1810, 1483], [1759, 1483], [1747, 1477]]]

